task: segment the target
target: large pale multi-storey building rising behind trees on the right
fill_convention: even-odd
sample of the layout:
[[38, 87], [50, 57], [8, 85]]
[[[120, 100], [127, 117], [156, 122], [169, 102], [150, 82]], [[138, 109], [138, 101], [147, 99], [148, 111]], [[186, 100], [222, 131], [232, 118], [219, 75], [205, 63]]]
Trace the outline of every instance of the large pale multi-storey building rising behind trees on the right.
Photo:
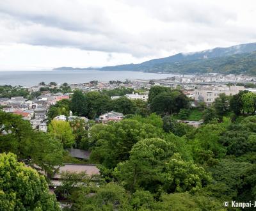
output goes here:
[[243, 86], [202, 86], [194, 91], [195, 103], [205, 102], [209, 106], [221, 93], [230, 96], [242, 90], [245, 90]]

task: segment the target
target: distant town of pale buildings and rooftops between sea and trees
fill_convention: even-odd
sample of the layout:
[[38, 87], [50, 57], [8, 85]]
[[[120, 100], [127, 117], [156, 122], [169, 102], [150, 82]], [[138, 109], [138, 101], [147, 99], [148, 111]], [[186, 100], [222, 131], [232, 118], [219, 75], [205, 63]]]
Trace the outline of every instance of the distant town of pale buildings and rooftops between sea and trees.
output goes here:
[[[191, 99], [193, 106], [200, 102], [205, 102], [210, 106], [221, 93], [225, 95], [236, 95], [239, 91], [248, 90], [256, 93], [256, 77], [246, 75], [222, 75], [222, 74], [201, 74], [194, 76], [175, 76], [166, 79], [152, 80], [133, 80], [133, 81], [109, 81], [99, 82], [91, 81], [77, 84], [56, 84], [50, 82], [32, 87], [0, 87], [0, 106], [8, 113], [19, 114], [24, 120], [29, 120], [33, 129], [47, 131], [47, 113], [52, 105], [60, 100], [70, 99], [73, 91], [81, 90], [84, 93], [90, 91], [108, 92], [112, 100], [125, 96], [131, 100], [148, 100], [148, 92], [152, 86], [164, 86], [181, 90]], [[6, 89], [4, 90], [4, 87]], [[115, 91], [110, 90], [123, 89], [121, 95], [116, 95]], [[7, 91], [6, 91], [7, 90]], [[6, 91], [6, 92], [4, 92]], [[127, 92], [127, 93], [126, 93]], [[19, 96], [21, 93], [23, 96]], [[121, 120], [124, 114], [115, 113], [101, 114], [99, 118], [93, 120], [106, 123], [111, 120]], [[67, 120], [72, 120], [76, 116], [70, 112]], [[65, 115], [55, 116], [56, 120], [66, 120]], [[88, 118], [84, 118], [88, 121]]]

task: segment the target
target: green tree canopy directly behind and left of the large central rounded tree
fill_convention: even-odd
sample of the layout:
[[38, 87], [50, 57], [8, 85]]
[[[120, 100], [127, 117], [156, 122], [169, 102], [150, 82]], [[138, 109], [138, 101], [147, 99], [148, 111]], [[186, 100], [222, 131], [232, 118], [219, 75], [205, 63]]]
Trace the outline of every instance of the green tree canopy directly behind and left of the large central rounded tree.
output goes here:
[[132, 146], [147, 137], [161, 136], [161, 129], [136, 120], [123, 120], [111, 125], [95, 125], [90, 130], [91, 159], [107, 168], [129, 158]]

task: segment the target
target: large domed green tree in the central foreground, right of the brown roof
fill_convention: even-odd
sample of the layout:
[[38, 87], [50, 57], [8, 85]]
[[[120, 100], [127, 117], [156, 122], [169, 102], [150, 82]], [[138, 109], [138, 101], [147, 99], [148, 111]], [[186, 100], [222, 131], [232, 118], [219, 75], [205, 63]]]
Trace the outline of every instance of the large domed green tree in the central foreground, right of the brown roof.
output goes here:
[[210, 180], [203, 168], [182, 160], [175, 152], [177, 147], [170, 141], [141, 140], [132, 147], [129, 160], [117, 165], [115, 176], [128, 189], [150, 192], [196, 191]]

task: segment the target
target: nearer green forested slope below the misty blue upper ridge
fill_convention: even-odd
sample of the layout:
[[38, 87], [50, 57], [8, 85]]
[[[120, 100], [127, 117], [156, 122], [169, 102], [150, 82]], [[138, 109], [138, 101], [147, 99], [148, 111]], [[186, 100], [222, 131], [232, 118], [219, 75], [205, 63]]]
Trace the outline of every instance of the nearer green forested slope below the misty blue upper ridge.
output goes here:
[[[70, 69], [73, 70], [73, 69]], [[85, 70], [81, 68], [80, 70]], [[87, 68], [86, 68], [87, 70]], [[95, 69], [92, 69], [95, 70]], [[164, 61], [163, 63], [141, 63], [117, 66], [104, 66], [97, 70], [142, 71], [161, 73], [195, 74], [218, 72], [221, 74], [256, 75], [256, 51], [218, 58]]]

